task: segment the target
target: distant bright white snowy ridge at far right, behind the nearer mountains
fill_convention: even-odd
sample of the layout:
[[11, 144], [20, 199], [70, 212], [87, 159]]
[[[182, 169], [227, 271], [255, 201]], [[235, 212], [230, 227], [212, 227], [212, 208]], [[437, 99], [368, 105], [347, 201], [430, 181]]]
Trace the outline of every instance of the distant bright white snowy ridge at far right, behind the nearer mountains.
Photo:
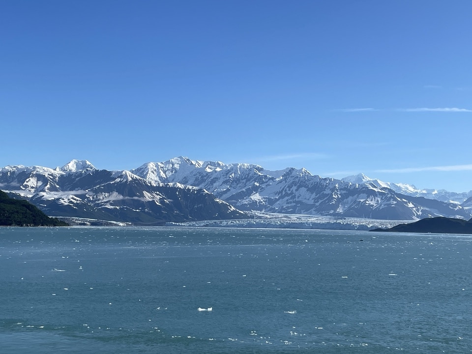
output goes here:
[[456, 193], [446, 191], [445, 189], [419, 189], [411, 184], [383, 182], [376, 178], [369, 178], [364, 174], [344, 177], [342, 180], [353, 184], [372, 184], [377, 187], [386, 187], [392, 189], [396, 193], [413, 197], [435, 199], [446, 203], [462, 204], [468, 198], [472, 197], [472, 190], [469, 192]]

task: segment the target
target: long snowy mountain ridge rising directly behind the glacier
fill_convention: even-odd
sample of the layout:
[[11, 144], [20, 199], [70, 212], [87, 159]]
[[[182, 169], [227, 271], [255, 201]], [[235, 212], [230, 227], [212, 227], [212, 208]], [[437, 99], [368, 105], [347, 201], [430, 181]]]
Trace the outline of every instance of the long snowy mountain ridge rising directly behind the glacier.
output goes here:
[[205, 188], [241, 210], [395, 220], [471, 217], [458, 205], [402, 195], [387, 184], [322, 178], [305, 169], [267, 171], [259, 165], [178, 157], [149, 162], [132, 172], [154, 183], [179, 182]]

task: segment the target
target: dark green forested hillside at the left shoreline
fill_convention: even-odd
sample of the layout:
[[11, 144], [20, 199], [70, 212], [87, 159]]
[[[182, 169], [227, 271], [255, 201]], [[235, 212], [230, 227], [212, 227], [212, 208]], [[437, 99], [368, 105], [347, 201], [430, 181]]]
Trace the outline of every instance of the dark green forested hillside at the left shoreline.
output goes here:
[[0, 191], [0, 226], [67, 226], [50, 218], [27, 201], [16, 200]]

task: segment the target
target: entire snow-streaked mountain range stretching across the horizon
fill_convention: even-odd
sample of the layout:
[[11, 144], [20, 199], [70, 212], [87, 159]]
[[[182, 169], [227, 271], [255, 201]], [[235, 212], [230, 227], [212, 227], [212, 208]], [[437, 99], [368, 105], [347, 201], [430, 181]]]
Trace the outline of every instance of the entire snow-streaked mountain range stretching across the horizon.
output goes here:
[[72, 160], [56, 169], [6, 166], [0, 189], [51, 216], [161, 225], [248, 218], [248, 211], [385, 220], [470, 219], [472, 191], [418, 190], [364, 175], [322, 178], [305, 169], [268, 171], [177, 157], [130, 171]]

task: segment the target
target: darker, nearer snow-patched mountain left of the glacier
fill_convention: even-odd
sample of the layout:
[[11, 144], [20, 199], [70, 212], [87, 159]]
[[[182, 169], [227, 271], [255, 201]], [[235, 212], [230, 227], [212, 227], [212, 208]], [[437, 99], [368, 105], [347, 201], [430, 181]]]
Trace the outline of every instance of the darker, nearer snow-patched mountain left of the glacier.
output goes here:
[[0, 188], [46, 214], [140, 225], [233, 219], [244, 213], [207, 191], [178, 183], [152, 183], [129, 171], [97, 170], [73, 160], [61, 168], [7, 166]]

